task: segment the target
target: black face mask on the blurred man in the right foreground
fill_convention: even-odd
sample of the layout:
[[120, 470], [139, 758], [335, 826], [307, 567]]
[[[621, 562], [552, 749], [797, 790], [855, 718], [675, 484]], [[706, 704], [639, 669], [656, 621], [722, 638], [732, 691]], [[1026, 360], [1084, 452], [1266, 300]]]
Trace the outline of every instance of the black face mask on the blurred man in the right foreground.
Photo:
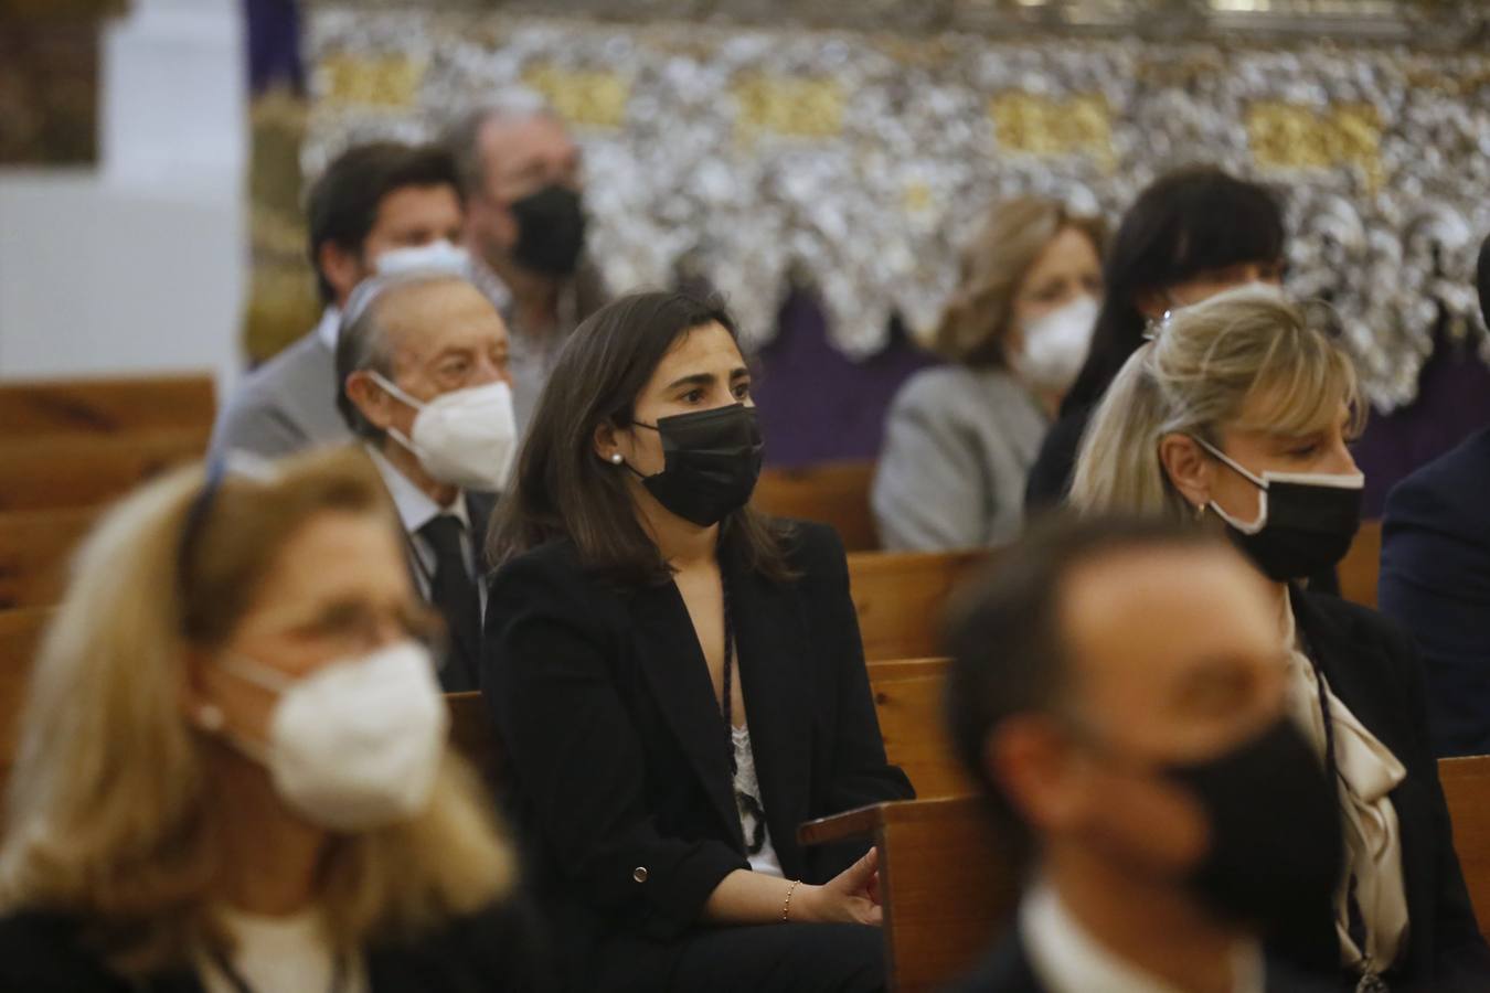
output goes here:
[[1307, 930], [1329, 907], [1344, 852], [1340, 801], [1287, 718], [1164, 776], [1199, 801], [1210, 823], [1210, 849], [1189, 878], [1207, 907], [1284, 936]]

